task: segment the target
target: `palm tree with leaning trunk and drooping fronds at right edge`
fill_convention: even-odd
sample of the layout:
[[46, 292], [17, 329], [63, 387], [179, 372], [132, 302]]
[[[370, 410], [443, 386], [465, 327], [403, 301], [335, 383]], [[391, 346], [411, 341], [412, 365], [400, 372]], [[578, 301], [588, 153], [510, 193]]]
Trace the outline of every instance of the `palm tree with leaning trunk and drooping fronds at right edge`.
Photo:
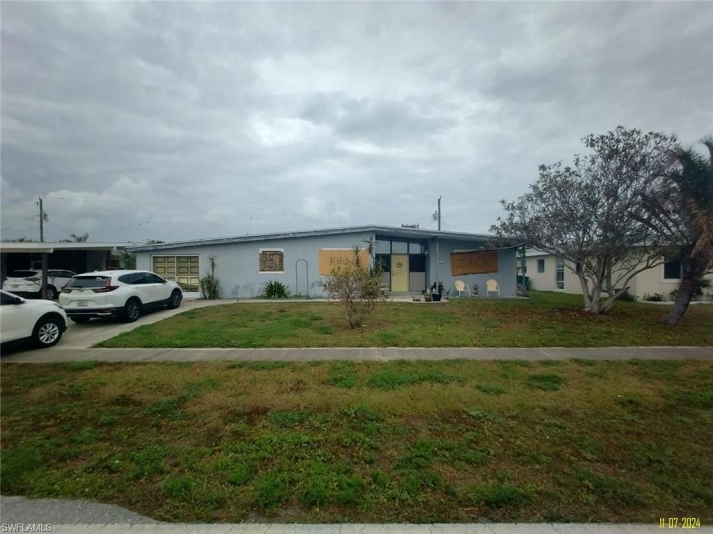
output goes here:
[[713, 137], [701, 142], [709, 156], [691, 148], [675, 150], [670, 168], [632, 215], [681, 261], [681, 283], [667, 325], [681, 320], [703, 276], [713, 271]]

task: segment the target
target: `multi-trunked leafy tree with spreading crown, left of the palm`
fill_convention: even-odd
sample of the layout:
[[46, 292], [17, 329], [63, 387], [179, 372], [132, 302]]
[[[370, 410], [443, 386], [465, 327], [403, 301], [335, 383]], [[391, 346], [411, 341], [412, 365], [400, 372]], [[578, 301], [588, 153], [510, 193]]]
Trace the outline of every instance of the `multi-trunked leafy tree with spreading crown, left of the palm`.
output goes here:
[[[617, 127], [588, 135], [591, 153], [540, 165], [540, 176], [491, 231], [553, 254], [580, 281], [585, 310], [606, 313], [631, 279], [662, 263], [657, 234], [632, 218], [677, 147], [673, 136]], [[604, 296], [606, 293], [606, 296]]]

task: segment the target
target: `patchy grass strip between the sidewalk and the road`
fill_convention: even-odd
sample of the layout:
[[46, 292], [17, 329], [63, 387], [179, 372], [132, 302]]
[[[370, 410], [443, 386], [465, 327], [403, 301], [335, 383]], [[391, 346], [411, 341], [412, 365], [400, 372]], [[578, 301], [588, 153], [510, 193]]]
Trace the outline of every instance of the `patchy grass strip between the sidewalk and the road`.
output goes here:
[[713, 362], [267, 363], [4, 364], [0, 492], [186, 522], [713, 520]]

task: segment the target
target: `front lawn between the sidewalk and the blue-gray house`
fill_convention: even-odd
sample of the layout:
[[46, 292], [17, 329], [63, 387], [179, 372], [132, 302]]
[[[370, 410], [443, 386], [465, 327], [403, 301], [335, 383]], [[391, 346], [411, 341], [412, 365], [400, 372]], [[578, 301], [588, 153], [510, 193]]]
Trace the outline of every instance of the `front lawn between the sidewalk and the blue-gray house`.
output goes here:
[[[352, 330], [339, 303], [232, 303], [142, 325], [98, 347], [605, 347], [713, 345], [713, 306], [691, 306], [665, 328], [665, 307], [618, 302], [606, 315], [578, 295], [533, 291], [530, 300], [383, 303]], [[91, 364], [91, 362], [89, 362]], [[261, 362], [255, 362], [260, 364]], [[78, 362], [77, 370], [87, 364]], [[348, 387], [349, 380], [344, 381]]]

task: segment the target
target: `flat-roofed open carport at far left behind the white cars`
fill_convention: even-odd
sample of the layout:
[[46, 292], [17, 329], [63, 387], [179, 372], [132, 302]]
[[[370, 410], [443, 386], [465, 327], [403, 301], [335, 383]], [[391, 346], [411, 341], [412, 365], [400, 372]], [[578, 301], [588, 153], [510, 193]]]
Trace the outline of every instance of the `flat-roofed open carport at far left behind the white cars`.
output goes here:
[[133, 243], [39, 243], [6, 241], [0, 243], [0, 279], [21, 269], [42, 272], [42, 298], [47, 297], [47, 271], [67, 269], [76, 273], [120, 268], [120, 252]]

